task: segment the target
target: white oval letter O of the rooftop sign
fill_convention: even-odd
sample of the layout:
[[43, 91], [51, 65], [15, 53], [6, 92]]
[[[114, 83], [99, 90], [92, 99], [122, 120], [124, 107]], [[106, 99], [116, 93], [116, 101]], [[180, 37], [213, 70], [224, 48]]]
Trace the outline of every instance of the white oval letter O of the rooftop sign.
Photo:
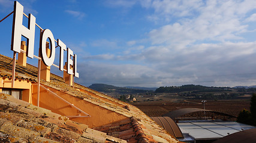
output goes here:
[[[46, 41], [47, 38], [50, 39], [50, 46], [51, 48], [51, 54], [50, 58], [47, 57], [46, 53]], [[49, 29], [44, 29], [41, 39], [40, 39], [40, 45], [41, 45], [41, 54], [42, 54], [42, 60], [46, 66], [52, 66], [53, 61], [55, 59], [55, 41], [52, 32]]]

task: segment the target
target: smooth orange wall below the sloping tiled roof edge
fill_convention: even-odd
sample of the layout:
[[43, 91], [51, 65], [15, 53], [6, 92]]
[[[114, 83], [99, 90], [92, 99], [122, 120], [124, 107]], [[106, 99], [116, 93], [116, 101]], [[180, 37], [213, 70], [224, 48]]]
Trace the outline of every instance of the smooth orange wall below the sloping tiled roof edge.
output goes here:
[[[70, 119], [79, 123], [86, 124], [89, 126], [89, 128], [128, 119], [128, 117], [123, 116], [122, 114], [110, 111], [107, 108], [92, 104], [91, 102], [74, 97], [73, 95], [66, 94], [65, 92], [58, 91], [56, 89], [50, 88], [49, 86], [44, 85], [44, 87], [52, 92], [55, 92], [59, 95], [59, 97], [64, 98], [68, 102], [71, 102], [76, 107], [88, 113], [91, 117], [77, 117]], [[32, 104], [37, 105], [37, 84], [33, 85]], [[53, 113], [61, 114], [62, 116], [77, 116], [79, 114], [82, 116], [84, 115], [79, 110], [67, 104], [67, 102], [62, 101], [42, 87], [40, 87], [40, 107], [52, 110]]]

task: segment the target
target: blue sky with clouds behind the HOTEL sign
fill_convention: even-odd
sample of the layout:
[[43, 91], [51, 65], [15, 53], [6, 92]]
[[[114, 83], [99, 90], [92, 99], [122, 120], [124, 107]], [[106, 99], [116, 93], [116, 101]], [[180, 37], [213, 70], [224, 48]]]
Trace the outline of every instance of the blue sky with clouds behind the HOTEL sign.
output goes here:
[[[19, 2], [25, 14], [34, 15], [40, 27], [50, 29], [77, 54], [75, 82], [82, 85], [256, 85], [255, 0]], [[13, 5], [0, 0], [0, 19]], [[8, 57], [13, 55], [12, 22], [13, 15], [0, 23], [0, 54]], [[35, 55], [39, 35], [36, 28]], [[28, 58], [29, 64], [37, 62]], [[51, 72], [63, 74], [56, 67]]]

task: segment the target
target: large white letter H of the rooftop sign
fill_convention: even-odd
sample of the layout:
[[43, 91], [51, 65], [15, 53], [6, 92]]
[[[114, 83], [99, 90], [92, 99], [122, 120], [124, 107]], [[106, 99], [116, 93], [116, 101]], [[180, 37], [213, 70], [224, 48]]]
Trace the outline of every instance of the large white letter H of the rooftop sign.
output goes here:
[[22, 36], [27, 38], [29, 58], [34, 57], [34, 42], [35, 42], [35, 17], [29, 14], [28, 28], [22, 25], [23, 19], [23, 6], [14, 1], [14, 14], [13, 14], [13, 34], [11, 38], [11, 50], [20, 53], [20, 45]]

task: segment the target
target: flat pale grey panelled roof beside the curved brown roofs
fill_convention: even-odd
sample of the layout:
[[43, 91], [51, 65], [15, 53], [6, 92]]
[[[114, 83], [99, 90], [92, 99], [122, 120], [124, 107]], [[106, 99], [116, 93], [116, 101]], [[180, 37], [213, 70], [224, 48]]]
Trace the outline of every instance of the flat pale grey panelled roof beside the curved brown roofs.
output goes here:
[[233, 133], [255, 129], [254, 126], [223, 120], [184, 120], [177, 123], [183, 142], [213, 142]]

